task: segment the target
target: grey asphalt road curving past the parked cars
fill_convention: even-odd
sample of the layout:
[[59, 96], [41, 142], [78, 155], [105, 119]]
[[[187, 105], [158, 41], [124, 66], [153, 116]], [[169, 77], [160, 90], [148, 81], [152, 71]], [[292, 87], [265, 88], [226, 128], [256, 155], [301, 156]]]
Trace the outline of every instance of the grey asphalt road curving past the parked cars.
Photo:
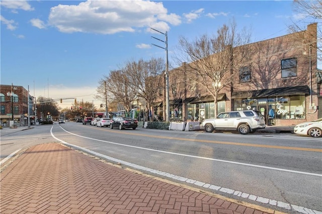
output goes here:
[[[76, 145], [106, 159], [126, 161], [122, 164], [129, 167], [146, 167], [141, 170], [148, 174], [285, 212], [295, 213], [287, 209], [288, 204], [304, 211], [322, 210], [321, 139], [292, 134], [121, 131], [67, 122], [3, 136], [1, 158], [48, 142]], [[260, 199], [245, 198], [246, 194]]]

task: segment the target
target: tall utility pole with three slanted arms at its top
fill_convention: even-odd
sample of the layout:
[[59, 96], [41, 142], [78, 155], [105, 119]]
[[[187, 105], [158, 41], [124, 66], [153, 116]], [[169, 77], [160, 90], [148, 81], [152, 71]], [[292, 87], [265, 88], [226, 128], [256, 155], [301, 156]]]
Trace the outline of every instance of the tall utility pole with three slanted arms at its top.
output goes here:
[[152, 37], [152, 36], [151, 37], [153, 39], [156, 39], [156, 40], [158, 40], [160, 42], [164, 42], [166, 44], [166, 47], [165, 48], [164, 47], [161, 47], [161, 46], [158, 46], [158, 45], [154, 45], [154, 44], [152, 44], [152, 45], [166, 50], [166, 73], [165, 73], [165, 75], [166, 75], [166, 120], [167, 120], [167, 122], [169, 122], [170, 121], [170, 118], [169, 118], [170, 100], [169, 100], [168, 31], [166, 31], [166, 33], [162, 33], [160, 31], [157, 31], [157, 30], [153, 29], [153, 28], [151, 28], [151, 29], [153, 31], [156, 31], [156, 32], [158, 32], [158, 33], [163, 34], [163, 35], [166, 36], [166, 41], [160, 40], [160, 39], [155, 38], [155, 37]]

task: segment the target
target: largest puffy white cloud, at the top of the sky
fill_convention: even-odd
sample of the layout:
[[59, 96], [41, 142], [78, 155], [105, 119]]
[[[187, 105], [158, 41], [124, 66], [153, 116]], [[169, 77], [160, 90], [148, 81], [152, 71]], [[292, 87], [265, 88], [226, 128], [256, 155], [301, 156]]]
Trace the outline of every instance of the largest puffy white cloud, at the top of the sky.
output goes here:
[[161, 2], [109, 0], [58, 5], [51, 8], [48, 23], [64, 33], [115, 34], [152, 26], [167, 31], [169, 24], [179, 25], [181, 20], [176, 14], [168, 14]]

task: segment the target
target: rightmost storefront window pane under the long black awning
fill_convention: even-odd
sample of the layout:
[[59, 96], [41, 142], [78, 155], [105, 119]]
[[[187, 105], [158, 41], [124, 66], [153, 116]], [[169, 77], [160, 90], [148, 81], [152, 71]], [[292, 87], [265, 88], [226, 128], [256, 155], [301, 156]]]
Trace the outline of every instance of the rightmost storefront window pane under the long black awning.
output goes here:
[[290, 119], [305, 119], [305, 96], [290, 97]]

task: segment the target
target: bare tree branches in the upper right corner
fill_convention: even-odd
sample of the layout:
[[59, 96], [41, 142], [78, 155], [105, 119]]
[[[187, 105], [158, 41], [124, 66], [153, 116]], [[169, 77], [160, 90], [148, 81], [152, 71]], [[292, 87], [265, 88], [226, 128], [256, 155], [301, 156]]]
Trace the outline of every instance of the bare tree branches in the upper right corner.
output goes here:
[[[300, 17], [300, 21], [293, 21], [293, 25], [289, 27], [292, 33], [303, 32], [303, 34], [296, 34], [299, 40], [305, 42], [306, 45], [315, 46], [317, 48], [317, 58], [322, 60], [322, 29], [320, 28], [322, 20], [322, 1], [302, 1], [294, 0], [294, 11], [298, 13], [297, 17]], [[305, 31], [307, 22], [318, 23], [317, 32], [314, 35], [309, 31]], [[304, 26], [301, 24], [305, 23]], [[316, 35], [315, 35], [316, 34]], [[307, 38], [316, 38], [316, 41], [308, 40]]]

